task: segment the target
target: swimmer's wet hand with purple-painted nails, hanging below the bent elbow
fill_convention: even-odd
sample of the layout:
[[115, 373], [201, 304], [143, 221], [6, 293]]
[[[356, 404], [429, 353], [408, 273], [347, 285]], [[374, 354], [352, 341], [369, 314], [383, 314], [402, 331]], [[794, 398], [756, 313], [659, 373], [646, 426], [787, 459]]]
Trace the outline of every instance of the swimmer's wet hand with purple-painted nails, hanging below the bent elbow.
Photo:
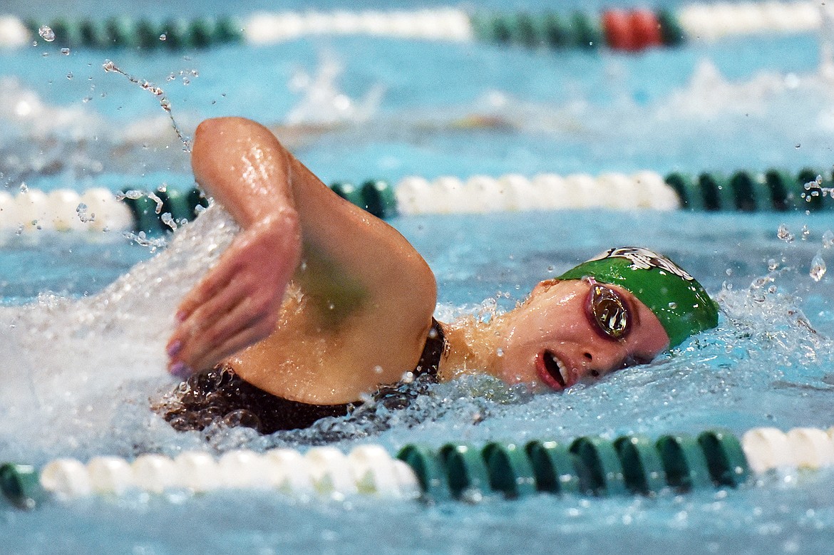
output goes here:
[[269, 336], [300, 256], [299, 219], [291, 208], [244, 229], [180, 303], [168, 371], [186, 378]]

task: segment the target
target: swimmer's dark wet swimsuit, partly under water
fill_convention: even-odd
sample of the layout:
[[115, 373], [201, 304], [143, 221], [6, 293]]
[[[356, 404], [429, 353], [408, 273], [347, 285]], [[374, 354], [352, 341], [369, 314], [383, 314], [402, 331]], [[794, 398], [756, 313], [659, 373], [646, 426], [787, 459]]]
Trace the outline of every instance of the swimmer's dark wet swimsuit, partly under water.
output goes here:
[[[440, 323], [432, 318], [423, 354], [414, 368], [414, 378], [425, 376], [428, 381], [436, 383], [437, 368], [444, 350], [443, 330]], [[399, 391], [399, 388], [384, 386], [374, 393], [373, 398], [385, 403], [395, 391]], [[179, 384], [156, 410], [177, 430], [202, 430], [222, 418], [231, 426], [242, 425], [256, 428], [260, 433], [274, 433], [278, 430], [308, 428], [320, 418], [343, 417], [361, 404], [361, 401], [356, 401], [338, 405], [314, 405], [280, 398], [244, 382], [229, 364], [219, 364]], [[393, 404], [401, 408], [407, 404], [407, 400]]]

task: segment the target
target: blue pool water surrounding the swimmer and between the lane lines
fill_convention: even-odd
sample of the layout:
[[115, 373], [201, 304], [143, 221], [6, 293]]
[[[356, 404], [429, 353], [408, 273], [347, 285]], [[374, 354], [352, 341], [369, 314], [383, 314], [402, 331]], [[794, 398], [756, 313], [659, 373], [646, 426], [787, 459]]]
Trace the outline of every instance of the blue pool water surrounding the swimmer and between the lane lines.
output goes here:
[[[234, 9], [246, 15], [269, 7], [264, 4]], [[7, 5], [21, 17], [104, 17], [115, 9], [95, 2]], [[514, 2], [508, 8], [535, 6]], [[217, 7], [208, 2], [177, 13]], [[348, 6], [320, 0], [316, 7]], [[392, 0], [349, 7], [412, 5]], [[153, 2], [126, 9], [164, 16]], [[834, 145], [834, 87], [818, 72], [818, 52], [811, 36], [695, 43], [637, 56], [369, 37], [184, 54], [79, 49], [64, 56], [43, 45], [0, 51], [0, 183], [13, 193], [22, 183], [78, 191], [193, 183], [188, 157], [158, 102], [104, 72], [105, 59], [162, 86], [186, 134], [204, 117], [254, 117], [325, 181], [640, 169], [825, 171]], [[339, 70], [324, 81], [351, 101], [353, 112], [334, 112], [334, 102], [310, 107], [305, 76], [330, 67]], [[17, 107], [24, 105], [22, 115]], [[500, 125], [461, 128], [458, 123], [472, 116]], [[340, 420], [266, 438], [246, 428], [218, 430], [208, 439], [177, 433], [150, 412], [148, 397], [170, 386], [162, 346], [173, 306], [217, 255], [209, 243], [229, 241], [223, 223], [216, 211], [204, 215], [156, 259], [118, 233], [92, 241], [48, 233], [0, 237], [0, 353], [6, 360], [0, 461], [304, 450], [320, 443], [344, 450], [381, 443], [395, 450], [410, 442], [834, 424], [834, 289], [830, 272], [819, 281], [809, 275], [817, 254], [834, 263], [834, 250], [823, 240], [834, 228], [830, 215], [576, 211], [399, 217], [392, 223], [438, 277], [439, 318], [511, 308], [542, 278], [614, 244], [641, 244], [679, 261], [717, 295], [719, 328], [648, 367], [562, 394], [531, 395], [467, 378], [436, 386], [414, 407], [377, 414], [370, 423]], [[777, 237], [781, 226], [792, 240]], [[136, 263], [142, 266], [131, 269]], [[831, 471], [783, 473], [738, 491], [542, 495], [432, 506], [361, 498], [299, 502], [240, 492], [90, 498], [50, 502], [33, 512], [0, 505], [0, 551], [829, 552], [831, 478]]]

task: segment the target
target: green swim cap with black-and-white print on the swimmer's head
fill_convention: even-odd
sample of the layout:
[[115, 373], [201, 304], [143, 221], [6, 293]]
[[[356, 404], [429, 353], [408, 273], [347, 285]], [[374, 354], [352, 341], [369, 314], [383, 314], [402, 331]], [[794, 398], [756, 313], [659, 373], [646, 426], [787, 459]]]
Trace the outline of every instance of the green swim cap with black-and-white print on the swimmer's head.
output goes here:
[[619, 285], [655, 313], [676, 347], [718, 325], [718, 305], [701, 283], [669, 258], [647, 248], [612, 248], [563, 273], [559, 279], [594, 278]]

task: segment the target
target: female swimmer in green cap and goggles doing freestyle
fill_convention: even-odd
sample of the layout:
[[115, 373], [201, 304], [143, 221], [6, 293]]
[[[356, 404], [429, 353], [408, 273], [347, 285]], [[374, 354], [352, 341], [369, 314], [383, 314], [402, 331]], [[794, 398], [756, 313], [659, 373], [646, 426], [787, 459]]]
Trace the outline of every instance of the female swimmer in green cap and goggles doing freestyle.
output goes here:
[[[438, 323], [435, 277], [394, 228], [331, 192], [266, 128], [200, 124], [197, 182], [241, 231], [183, 298], [158, 410], [175, 428], [234, 413], [262, 433], [341, 416], [404, 373], [486, 372], [553, 390], [645, 363], [717, 323], [668, 258], [615, 248], [488, 323]], [[243, 418], [241, 418], [243, 414]]]

